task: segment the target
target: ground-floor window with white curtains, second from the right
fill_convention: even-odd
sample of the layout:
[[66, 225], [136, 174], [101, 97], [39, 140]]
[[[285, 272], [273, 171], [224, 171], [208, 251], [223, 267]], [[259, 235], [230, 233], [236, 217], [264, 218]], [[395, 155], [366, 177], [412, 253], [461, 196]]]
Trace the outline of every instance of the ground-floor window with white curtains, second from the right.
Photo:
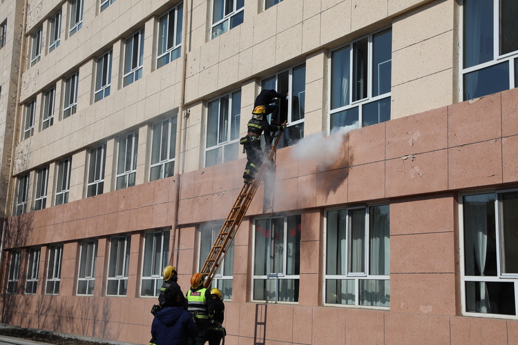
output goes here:
[[327, 304], [390, 306], [390, 207], [327, 211]]

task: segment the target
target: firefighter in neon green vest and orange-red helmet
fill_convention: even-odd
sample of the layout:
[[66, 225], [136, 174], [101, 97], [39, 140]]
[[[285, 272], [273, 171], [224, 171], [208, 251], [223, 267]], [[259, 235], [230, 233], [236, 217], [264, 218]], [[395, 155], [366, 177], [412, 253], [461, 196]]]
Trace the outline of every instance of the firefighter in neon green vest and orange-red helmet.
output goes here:
[[189, 344], [203, 345], [207, 340], [207, 326], [214, 315], [214, 301], [211, 293], [203, 286], [204, 277], [195, 273], [191, 277], [191, 288], [187, 291], [187, 311], [193, 315], [198, 326], [198, 335], [189, 337]]

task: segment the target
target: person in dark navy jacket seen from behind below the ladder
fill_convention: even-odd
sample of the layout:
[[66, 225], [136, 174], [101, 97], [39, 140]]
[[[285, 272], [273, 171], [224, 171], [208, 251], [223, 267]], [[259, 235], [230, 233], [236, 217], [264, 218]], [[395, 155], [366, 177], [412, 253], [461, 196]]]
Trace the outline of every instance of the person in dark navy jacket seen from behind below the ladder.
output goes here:
[[198, 335], [198, 326], [180, 302], [180, 291], [171, 286], [164, 291], [164, 297], [164, 306], [151, 324], [154, 343], [150, 345], [189, 345], [189, 337]]

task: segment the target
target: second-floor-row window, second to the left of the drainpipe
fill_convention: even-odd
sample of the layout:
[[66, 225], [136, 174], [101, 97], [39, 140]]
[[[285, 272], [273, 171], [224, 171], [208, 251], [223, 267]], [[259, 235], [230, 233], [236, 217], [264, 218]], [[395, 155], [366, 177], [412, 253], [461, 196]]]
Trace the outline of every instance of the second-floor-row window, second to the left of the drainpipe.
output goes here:
[[135, 186], [137, 175], [137, 149], [139, 132], [124, 135], [119, 139], [119, 157], [117, 158], [117, 190]]

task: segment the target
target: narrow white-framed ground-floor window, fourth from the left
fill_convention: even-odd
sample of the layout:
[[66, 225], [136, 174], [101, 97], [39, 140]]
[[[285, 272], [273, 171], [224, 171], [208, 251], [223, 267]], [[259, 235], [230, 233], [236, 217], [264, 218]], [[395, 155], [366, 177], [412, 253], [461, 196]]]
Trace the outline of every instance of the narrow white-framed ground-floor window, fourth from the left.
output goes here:
[[81, 242], [77, 295], [93, 295], [95, 264], [97, 264], [97, 239]]

